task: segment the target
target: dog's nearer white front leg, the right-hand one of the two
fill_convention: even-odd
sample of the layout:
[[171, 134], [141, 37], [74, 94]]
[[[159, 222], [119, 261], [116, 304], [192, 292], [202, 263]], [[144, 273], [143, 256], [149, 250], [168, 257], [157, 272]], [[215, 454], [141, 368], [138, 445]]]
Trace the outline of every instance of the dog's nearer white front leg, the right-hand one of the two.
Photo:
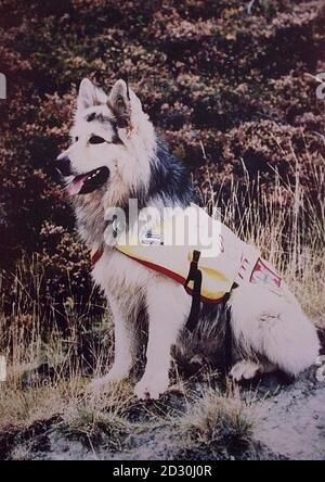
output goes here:
[[144, 375], [134, 393], [141, 398], [158, 398], [169, 384], [170, 348], [190, 313], [191, 296], [183, 287], [159, 277], [147, 289], [148, 343]]

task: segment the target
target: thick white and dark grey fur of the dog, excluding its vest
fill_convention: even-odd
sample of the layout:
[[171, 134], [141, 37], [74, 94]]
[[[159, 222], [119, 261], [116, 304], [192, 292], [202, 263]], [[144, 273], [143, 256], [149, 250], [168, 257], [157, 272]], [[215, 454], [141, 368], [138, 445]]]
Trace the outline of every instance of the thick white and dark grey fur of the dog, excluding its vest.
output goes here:
[[[103, 142], [89, 142], [92, 136]], [[79, 233], [90, 248], [103, 243], [105, 211], [126, 207], [129, 198], [136, 198], [140, 207], [186, 207], [192, 199], [184, 167], [157, 138], [139, 98], [123, 80], [108, 96], [82, 80], [72, 144], [58, 157], [63, 158], [69, 165], [67, 183], [73, 176], [102, 166], [109, 169], [109, 178], [99, 189], [73, 196]], [[115, 324], [115, 362], [92, 386], [129, 375], [135, 359], [136, 320], [145, 313], [146, 367], [134, 393], [140, 398], [158, 397], [168, 388], [170, 351], [188, 317], [191, 296], [181, 284], [109, 246], [92, 275], [105, 291]], [[208, 327], [216, 351], [222, 351], [227, 313], [235, 380], [274, 369], [296, 376], [315, 362], [320, 350], [316, 330], [297, 303], [248, 283], [233, 290], [227, 302], [203, 304], [197, 330]]]

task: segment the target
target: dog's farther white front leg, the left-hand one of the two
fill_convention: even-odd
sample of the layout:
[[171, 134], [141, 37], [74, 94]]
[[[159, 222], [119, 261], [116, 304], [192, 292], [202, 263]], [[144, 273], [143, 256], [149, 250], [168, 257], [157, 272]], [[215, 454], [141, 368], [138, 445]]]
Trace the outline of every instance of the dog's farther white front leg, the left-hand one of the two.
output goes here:
[[109, 294], [107, 299], [114, 318], [114, 364], [107, 375], [92, 380], [90, 389], [128, 377], [135, 356], [134, 322], [130, 319], [129, 309], [118, 297]]

